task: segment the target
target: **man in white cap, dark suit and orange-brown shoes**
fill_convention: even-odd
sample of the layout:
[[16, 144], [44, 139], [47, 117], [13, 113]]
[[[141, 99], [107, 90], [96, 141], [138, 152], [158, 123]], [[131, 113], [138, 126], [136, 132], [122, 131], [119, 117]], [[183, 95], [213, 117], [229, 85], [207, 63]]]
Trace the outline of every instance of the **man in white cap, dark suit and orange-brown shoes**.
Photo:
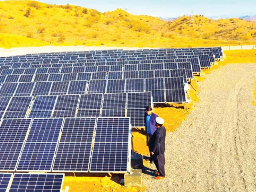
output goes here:
[[165, 127], [163, 126], [164, 119], [156, 117], [157, 130], [150, 138], [150, 154], [153, 155], [154, 163], [157, 171], [155, 179], [165, 178], [164, 172], [164, 151], [165, 151]]

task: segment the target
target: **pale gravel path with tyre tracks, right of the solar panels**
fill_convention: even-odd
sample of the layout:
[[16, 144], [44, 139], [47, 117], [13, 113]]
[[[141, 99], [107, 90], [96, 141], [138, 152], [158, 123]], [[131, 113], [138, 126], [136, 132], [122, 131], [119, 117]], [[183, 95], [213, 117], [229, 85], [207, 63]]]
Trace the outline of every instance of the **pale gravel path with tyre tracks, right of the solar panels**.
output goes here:
[[229, 64], [198, 83], [199, 103], [166, 136], [166, 178], [143, 175], [149, 191], [256, 191], [255, 69]]

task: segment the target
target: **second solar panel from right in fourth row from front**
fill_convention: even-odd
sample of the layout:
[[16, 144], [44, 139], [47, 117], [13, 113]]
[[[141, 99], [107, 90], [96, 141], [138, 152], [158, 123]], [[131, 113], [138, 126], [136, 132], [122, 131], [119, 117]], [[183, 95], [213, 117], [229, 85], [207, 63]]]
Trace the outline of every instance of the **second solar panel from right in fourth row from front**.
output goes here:
[[145, 80], [145, 90], [152, 93], [154, 103], [164, 103], [164, 79], [150, 78]]

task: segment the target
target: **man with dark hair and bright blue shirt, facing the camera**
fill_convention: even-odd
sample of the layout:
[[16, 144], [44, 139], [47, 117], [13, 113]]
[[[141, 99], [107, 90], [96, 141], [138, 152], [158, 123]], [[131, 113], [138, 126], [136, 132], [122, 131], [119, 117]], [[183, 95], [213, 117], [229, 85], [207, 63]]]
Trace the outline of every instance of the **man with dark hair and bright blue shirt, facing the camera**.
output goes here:
[[[151, 136], [154, 134], [156, 131], [156, 117], [158, 117], [155, 113], [152, 112], [152, 107], [147, 106], [146, 107], [146, 113], [144, 115], [145, 118], [145, 127], [146, 127], [146, 141], [147, 141], [147, 146], [150, 154], [150, 149], [149, 149], [149, 140]], [[153, 163], [153, 156], [150, 155], [150, 163]]]

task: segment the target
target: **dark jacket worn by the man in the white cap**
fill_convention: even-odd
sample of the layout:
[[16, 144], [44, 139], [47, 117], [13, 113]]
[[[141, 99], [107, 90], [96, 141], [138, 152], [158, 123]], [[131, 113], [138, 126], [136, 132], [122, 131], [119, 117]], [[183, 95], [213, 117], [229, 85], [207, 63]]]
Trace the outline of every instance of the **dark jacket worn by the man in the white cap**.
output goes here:
[[149, 141], [150, 151], [154, 152], [154, 155], [163, 154], [165, 151], [165, 127], [159, 127], [152, 135]]

